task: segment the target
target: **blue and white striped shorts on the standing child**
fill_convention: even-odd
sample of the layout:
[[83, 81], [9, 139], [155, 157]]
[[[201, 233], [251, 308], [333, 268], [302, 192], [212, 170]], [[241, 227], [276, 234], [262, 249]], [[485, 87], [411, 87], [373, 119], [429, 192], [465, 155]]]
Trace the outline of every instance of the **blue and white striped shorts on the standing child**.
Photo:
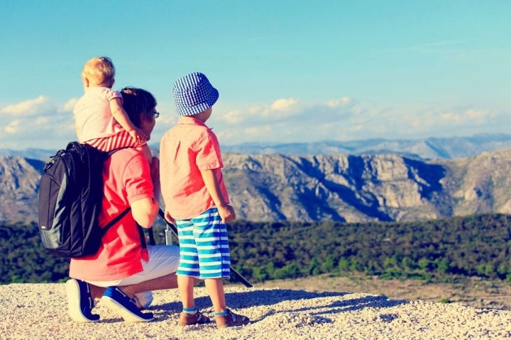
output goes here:
[[180, 264], [177, 275], [194, 278], [229, 278], [231, 254], [227, 227], [218, 209], [211, 208], [189, 220], [177, 220]]

